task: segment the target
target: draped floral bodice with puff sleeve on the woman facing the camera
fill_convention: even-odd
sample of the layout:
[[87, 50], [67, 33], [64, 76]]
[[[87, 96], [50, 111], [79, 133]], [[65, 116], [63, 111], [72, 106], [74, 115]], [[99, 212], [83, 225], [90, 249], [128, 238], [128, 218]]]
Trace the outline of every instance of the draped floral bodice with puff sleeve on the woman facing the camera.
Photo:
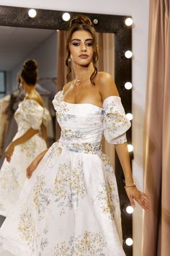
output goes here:
[[61, 126], [61, 140], [69, 150], [96, 153], [101, 148], [103, 133], [109, 143], [126, 141], [125, 132], [130, 121], [125, 116], [120, 97], [109, 96], [100, 108], [90, 103], [66, 103], [60, 91], [53, 105]]

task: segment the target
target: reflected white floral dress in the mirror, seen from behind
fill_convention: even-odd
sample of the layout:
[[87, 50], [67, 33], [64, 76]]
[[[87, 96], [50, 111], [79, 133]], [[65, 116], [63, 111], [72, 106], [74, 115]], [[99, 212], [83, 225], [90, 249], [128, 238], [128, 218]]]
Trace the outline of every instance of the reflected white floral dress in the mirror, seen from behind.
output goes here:
[[[40, 129], [42, 121], [48, 124], [50, 114], [36, 101], [25, 100], [19, 103], [15, 119], [18, 131], [13, 140], [24, 135], [30, 128]], [[6, 216], [15, 204], [26, 179], [27, 166], [45, 149], [45, 140], [37, 134], [14, 148], [10, 163], [4, 160], [0, 171], [0, 215]]]

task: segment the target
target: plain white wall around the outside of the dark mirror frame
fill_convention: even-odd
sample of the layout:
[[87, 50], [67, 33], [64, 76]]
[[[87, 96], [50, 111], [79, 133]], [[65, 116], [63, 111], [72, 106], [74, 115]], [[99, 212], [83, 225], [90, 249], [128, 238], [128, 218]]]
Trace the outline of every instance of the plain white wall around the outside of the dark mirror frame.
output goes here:
[[[143, 116], [146, 98], [148, 11], [149, 0], [105, 0], [84, 2], [72, 1], [23, 1], [1, 0], [1, 4], [17, 7], [58, 9], [73, 12], [132, 15], [133, 28], [133, 176], [140, 189], [143, 189]], [[137, 207], [133, 213], [133, 255], [141, 256], [142, 210]]]

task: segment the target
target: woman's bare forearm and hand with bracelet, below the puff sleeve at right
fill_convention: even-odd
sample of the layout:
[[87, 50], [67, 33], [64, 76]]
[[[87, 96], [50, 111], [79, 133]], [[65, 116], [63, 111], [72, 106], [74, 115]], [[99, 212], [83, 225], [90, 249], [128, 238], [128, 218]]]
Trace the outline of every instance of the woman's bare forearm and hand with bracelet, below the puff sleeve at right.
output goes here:
[[120, 159], [123, 173], [125, 175], [125, 190], [130, 200], [130, 204], [135, 208], [135, 200], [144, 210], [150, 209], [149, 197], [140, 192], [133, 181], [132, 170], [130, 167], [130, 156], [128, 153], [127, 143], [115, 145], [117, 155]]

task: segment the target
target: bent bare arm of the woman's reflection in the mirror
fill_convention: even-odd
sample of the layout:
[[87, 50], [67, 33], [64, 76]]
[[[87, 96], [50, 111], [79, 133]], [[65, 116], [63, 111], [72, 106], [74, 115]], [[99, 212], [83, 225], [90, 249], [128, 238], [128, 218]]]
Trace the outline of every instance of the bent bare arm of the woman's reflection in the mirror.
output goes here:
[[14, 152], [14, 147], [22, 144], [24, 142], [26, 142], [27, 140], [29, 140], [32, 136], [36, 135], [39, 132], [38, 129], [32, 129], [30, 128], [29, 130], [27, 130], [27, 132], [24, 133], [24, 135], [22, 135], [21, 137], [17, 138], [16, 140], [12, 141], [7, 149], [6, 149], [6, 153], [5, 153], [5, 157], [6, 157], [6, 161], [10, 162], [11, 161], [11, 157], [12, 154]]

